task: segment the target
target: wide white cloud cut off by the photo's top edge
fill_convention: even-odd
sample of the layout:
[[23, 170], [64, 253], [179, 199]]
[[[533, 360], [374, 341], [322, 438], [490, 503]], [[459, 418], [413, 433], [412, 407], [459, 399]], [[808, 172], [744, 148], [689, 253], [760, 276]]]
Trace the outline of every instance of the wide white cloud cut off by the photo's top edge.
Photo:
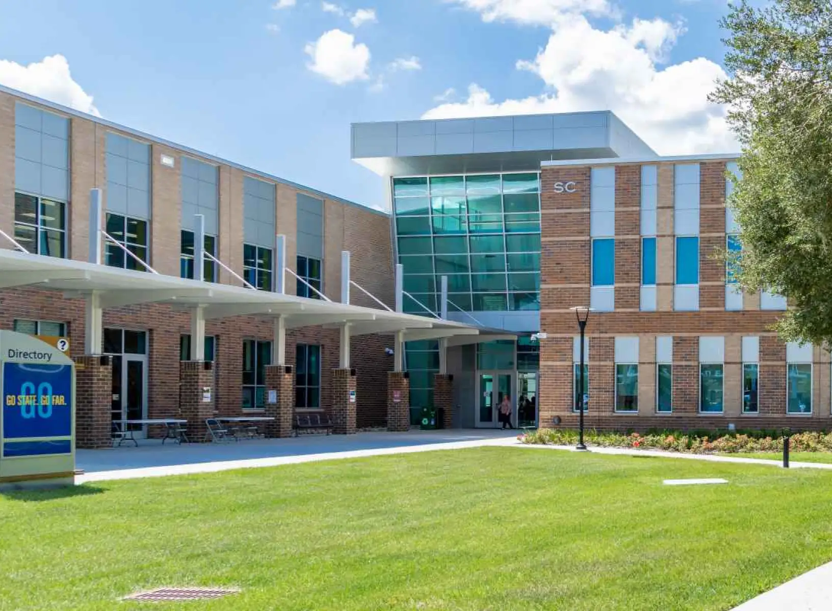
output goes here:
[[615, 17], [617, 8], [608, 0], [445, 0], [480, 13], [484, 22], [513, 21], [550, 26], [568, 14]]

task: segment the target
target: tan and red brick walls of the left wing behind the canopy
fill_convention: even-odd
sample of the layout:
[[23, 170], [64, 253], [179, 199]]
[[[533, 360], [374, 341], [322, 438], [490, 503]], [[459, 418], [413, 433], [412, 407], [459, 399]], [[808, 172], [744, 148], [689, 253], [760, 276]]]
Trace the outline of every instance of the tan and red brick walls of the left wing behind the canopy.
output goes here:
[[[0, 92], [0, 229], [8, 234], [13, 232], [14, 223], [14, 133], [15, 103], [19, 100]], [[87, 260], [89, 251], [89, 190], [102, 189], [106, 212], [106, 134], [118, 133], [140, 140], [151, 146], [151, 219], [148, 224], [149, 263], [160, 273], [178, 276], [180, 273], [181, 249], [181, 157], [188, 155], [218, 167], [217, 185], [217, 249], [220, 260], [235, 273], [243, 273], [242, 244], [243, 224], [243, 180], [253, 175], [275, 185], [276, 231], [286, 236], [286, 264], [295, 269], [297, 252], [296, 202], [299, 193], [324, 200], [324, 293], [333, 300], [339, 300], [340, 253], [352, 250], [352, 278], [376, 297], [394, 303], [394, 279], [392, 243], [390, 240], [390, 219], [387, 214], [339, 200], [300, 185], [275, 179], [254, 170], [230, 165], [221, 160], [201, 156], [193, 150], [177, 148], [176, 145], [154, 140], [145, 135], [105, 126], [85, 117], [74, 116], [47, 103], [22, 101], [42, 110], [67, 116], [70, 119], [70, 198], [67, 202], [67, 254], [72, 259]], [[170, 155], [175, 160], [173, 167], [161, 164], [161, 155]], [[7, 249], [10, 244], [0, 244]], [[240, 285], [230, 273], [220, 269], [221, 283]], [[286, 274], [286, 292], [295, 293], [295, 282]], [[357, 290], [353, 291], [351, 303], [376, 308], [377, 303]], [[42, 291], [32, 288], [7, 288], [0, 290], [0, 328], [11, 329], [15, 319], [37, 319], [64, 323], [70, 338], [71, 356], [79, 359], [83, 354], [84, 302], [81, 298], [66, 298], [57, 291]], [[190, 315], [182, 309], [163, 304], [142, 304], [125, 308], [108, 308], [103, 312], [105, 328], [125, 328], [146, 332], [146, 388], [147, 417], [178, 416], [181, 413], [180, 392], [186, 384], [191, 370], [180, 361], [180, 337], [190, 333]], [[245, 339], [271, 341], [273, 323], [270, 318], [240, 316], [211, 319], [206, 322], [206, 335], [215, 337], [215, 362], [210, 371], [212, 387], [212, 411], [220, 416], [240, 416], [242, 381], [242, 343]], [[293, 329], [286, 334], [286, 364], [295, 365], [297, 343], [319, 345], [320, 363], [320, 410], [334, 414], [334, 373], [338, 367], [339, 334], [337, 330], [310, 327]], [[392, 369], [392, 357], [384, 348], [392, 346], [392, 339], [385, 335], [363, 335], [352, 339], [351, 358], [357, 372], [353, 382], [360, 396], [364, 397], [360, 407], [354, 409], [352, 420], [347, 426], [354, 430], [359, 426], [384, 426], [387, 419], [386, 384], [387, 372]], [[182, 369], [181, 369], [182, 367]], [[198, 367], [198, 366], [194, 366]], [[79, 381], [89, 376], [92, 368], [82, 373]], [[201, 370], [206, 372], [207, 370]], [[96, 374], [96, 398], [91, 405], [106, 413], [106, 430], [102, 422], [90, 413], [79, 412], [77, 435], [91, 446], [110, 444], [111, 382], [104, 382], [105, 372]], [[202, 377], [208, 373], [201, 373]], [[83, 397], [87, 382], [79, 387]], [[88, 387], [89, 385], [87, 385]], [[103, 388], [106, 386], [106, 388]], [[294, 408], [294, 393], [291, 397]], [[79, 403], [79, 407], [80, 407]], [[184, 406], [183, 406], [184, 407]], [[354, 405], [355, 407], [355, 405]], [[189, 408], [191, 409], [191, 408]], [[257, 412], [262, 415], [264, 411]], [[203, 416], [199, 413], [199, 417]], [[103, 417], [103, 416], [102, 416]], [[282, 430], [282, 429], [281, 429]], [[98, 441], [97, 441], [98, 440]]]

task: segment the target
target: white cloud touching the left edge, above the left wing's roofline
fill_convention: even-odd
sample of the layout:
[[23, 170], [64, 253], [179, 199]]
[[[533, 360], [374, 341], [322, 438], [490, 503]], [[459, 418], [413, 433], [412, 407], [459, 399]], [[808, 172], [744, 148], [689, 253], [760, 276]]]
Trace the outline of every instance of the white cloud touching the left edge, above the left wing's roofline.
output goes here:
[[92, 96], [72, 80], [69, 62], [62, 55], [44, 57], [42, 62], [31, 63], [28, 66], [0, 60], [0, 83], [77, 111], [101, 116], [92, 104]]

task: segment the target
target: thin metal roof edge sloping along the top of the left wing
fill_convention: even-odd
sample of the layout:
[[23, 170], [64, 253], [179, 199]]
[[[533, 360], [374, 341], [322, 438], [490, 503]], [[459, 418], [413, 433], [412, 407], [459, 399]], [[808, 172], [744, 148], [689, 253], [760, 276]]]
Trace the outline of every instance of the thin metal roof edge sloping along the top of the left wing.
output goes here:
[[236, 163], [235, 161], [230, 161], [224, 159], [223, 157], [219, 157], [217, 155], [210, 155], [210, 153], [203, 152], [201, 150], [191, 149], [189, 146], [177, 144], [172, 140], [166, 140], [164, 138], [160, 138], [159, 136], [153, 136], [148, 134], [144, 131], [139, 131], [133, 129], [132, 127], [123, 126], [120, 123], [116, 123], [115, 121], [107, 121], [106, 119], [100, 116], [90, 115], [86, 112], [77, 111], [74, 108], [70, 108], [69, 106], [63, 106], [62, 104], [58, 104], [57, 102], [45, 100], [42, 97], [32, 96], [31, 94], [26, 93], [25, 91], [18, 91], [17, 89], [12, 89], [12, 87], [7, 87], [5, 85], [0, 85], [0, 92], [7, 93], [10, 96], [15, 96], [21, 98], [23, 101], [30, 101], [35, 104], [39, 104], [41, 106], [46, 106], [47, 108], [51, 108], [53, 111], [59, 111], [66, 115], [76, 116], [79, 119], [85, 119], [87, 121], [93, 121], [98, 125], [110, 127], [111, 129], [123, 131], [126, 134], [131, 136], [136, 136], [137, 138], [141, 138], [143, 140], [151, 140], [156, 144], [170, 146], [171, 148], [181, 150], [181, 152], [186, 153], [188, 155], [196, 155], [200, 156], [206, 160], [210, 160], [215, 162], [216, 164], [222, 165], [229, 165], [232, 168], [236, 168], [237, 170], [242, 170], [247, 174], [260, 176], [260, 178], [265, 178], [268, 180], [273, 180], [281, 185], [286, 185], [292, 187], [293, 189], [304, 190], [307, 193], [312, 195], [317, 195], [324, 200], [333, 200], [339, 202], [340, 204], [346, 204], [349, 206], [353, 206], [354, 208], [359, 208], [362, 210], [367, 210], [374, 214], [380, 214], [382, 216], [389, 216], [387, 212], [384, 210], [379, 210], [377, 208], [370, 208], [367, 205], [359, 204], [358, 202], [354, 202], [352, 200], [345, 200], [343, 197], [339, 197], [338, 195], [332, 195], [331, 193], [326, 193], [325, 191], [313, 189], [312, 187], [308, 187], [306, 185], [301, 185], [300, 183], [296, 183], [292, 180], [287, 180], [285, 178], [280, 178], [280, 176], [275, 176], [273, 174], [269, 174], [268, 172], [264, 172], [262, 170], [255, 170], [255, 168], [251, 168], [248, 165], [242, 165]]

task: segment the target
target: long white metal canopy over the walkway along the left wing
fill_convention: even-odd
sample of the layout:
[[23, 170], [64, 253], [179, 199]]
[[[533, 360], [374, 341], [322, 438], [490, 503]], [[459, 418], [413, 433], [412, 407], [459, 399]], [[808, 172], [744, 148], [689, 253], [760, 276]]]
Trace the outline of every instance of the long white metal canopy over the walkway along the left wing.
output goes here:
[[349, 323], [352, 335], [402, 332], [404, 341], [448, 338], [449, 346], [516, 338], [503, 330], [450, 320], [0, 249], [0, 288], [10, 287], [61, 291], [67, 298], [94, 294], [102, 308], [139, 303], [199, 307], [206, 320], [281, 317], [287, 329]]

